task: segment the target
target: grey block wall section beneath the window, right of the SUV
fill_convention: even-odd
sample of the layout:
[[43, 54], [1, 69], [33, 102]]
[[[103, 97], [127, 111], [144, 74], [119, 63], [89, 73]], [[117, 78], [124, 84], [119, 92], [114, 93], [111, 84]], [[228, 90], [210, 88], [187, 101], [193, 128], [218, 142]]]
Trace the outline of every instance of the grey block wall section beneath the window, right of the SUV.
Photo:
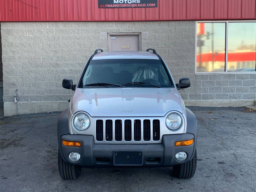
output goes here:
[[196, 74], [193, 84], [180, 91], [190, 105], [201, 100], [200, 106], [246, 106], [256, 99], [256, 73]]

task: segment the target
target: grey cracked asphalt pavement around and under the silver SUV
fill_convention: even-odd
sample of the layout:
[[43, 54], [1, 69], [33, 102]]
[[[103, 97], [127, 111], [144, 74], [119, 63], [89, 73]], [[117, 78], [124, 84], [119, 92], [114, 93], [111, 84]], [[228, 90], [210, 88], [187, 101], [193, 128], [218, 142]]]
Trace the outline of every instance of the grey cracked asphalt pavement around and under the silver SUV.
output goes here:
[[197, 118], [197, 169], [177, 179], [172, 168], [82, 168], [77, 180], [58, 170], [60, 113], [0, 118], [0, 191], [256, 191], [256, 112], [189, 107]]

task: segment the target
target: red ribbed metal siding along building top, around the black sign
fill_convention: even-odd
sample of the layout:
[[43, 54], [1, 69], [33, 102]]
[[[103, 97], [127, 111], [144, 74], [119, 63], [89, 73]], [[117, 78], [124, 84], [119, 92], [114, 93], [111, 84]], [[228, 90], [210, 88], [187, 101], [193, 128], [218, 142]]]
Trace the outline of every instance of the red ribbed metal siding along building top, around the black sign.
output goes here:
[[99, 9], [98, 0], [0, 0], [0, 21], [255, 19], [256, 0], [158, 0], [156, 8]]

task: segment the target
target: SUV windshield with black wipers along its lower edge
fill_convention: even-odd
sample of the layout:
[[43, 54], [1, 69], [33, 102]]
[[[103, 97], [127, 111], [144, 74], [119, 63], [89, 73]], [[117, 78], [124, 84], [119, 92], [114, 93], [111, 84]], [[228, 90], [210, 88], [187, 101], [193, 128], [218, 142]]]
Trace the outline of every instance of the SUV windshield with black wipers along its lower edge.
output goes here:
[[162, 61], [155, 59], [91, 60], [79, 87], [120, 87], [117, 85], [172, 87]]

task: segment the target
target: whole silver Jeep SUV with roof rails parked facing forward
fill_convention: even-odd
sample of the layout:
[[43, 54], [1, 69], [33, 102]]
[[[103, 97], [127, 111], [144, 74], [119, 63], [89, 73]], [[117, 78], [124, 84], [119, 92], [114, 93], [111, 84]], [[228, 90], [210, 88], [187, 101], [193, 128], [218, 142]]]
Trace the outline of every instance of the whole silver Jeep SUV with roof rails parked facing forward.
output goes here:
[[178, 178], [194, 176], [196, 117], [178, 92], [190, 80], [174, 84], [154, 49], [97, 49], [78, 83], [62, 86], [75, 91], [58, 119], [62, 179], [76, 179], [82, 166], [173, 167]]

